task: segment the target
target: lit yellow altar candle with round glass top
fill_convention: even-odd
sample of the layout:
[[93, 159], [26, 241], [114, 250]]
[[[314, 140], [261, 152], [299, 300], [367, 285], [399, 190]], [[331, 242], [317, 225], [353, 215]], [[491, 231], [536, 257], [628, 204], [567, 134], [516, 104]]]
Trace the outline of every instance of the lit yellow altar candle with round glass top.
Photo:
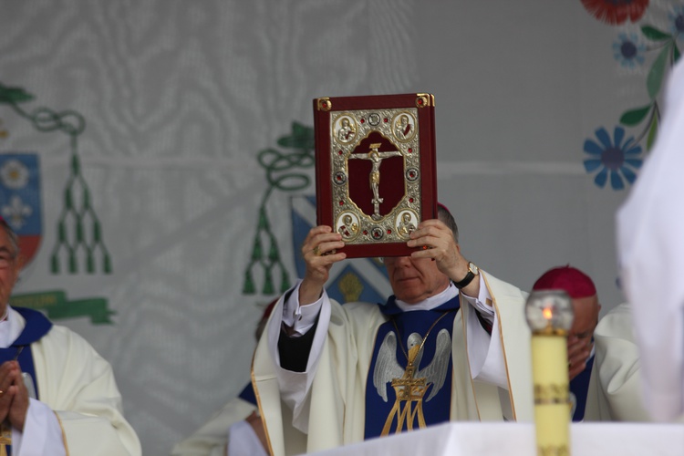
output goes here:
[[569, 456], [567, 334], [573, 324], [572, 301], [564, 291], [534, 291], [525, 316], [532, 330], [537, 456]]

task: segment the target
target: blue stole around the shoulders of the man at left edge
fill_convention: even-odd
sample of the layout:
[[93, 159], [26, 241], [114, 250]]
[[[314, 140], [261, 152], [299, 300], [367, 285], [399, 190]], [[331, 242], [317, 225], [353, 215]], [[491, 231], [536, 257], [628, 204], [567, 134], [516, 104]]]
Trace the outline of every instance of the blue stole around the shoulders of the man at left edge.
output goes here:
[[[0, 348], [0, 363], [11, 361], [16, 358], [16, 353], [21, 349], [19, 358], [19, 366], [24, 374], [28, 374], [33, 383], [33, 388], [36, 391], [36, 399], [39, 398], [38, 383], [36, 381], [36, 367], [33, 362], [33, 353], [31, 352], [31, 344], [40, 340], [52, 328], [52, 322], [46, 316], [37, 310], [28, 309], [24, 307], [12, 307], [26, 320], [26, 326], [19, 337], [7, 348]], [[26, 382], [26, 375], [24, 376]], [[27, 388], [28, 385], [26, 385]]]

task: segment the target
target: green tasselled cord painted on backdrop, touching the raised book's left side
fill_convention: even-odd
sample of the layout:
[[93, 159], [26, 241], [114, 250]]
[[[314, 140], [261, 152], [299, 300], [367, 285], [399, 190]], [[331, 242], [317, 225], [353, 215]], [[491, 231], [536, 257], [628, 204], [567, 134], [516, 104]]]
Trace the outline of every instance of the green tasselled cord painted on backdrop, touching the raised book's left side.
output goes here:
[[285, 151], [275, 149], [261, 150], [257, 156], [259, 164], [264, 168], [268, 187], [259, 205], [257, 228], [254, 234], [252, 257], [244, 271], [244, 295], [254, 295], [254, 269], [263, 271], [264, 284], [262, 294], [275, 293], [274, 272], [280, 274], [280, 292], [290, 287], [290, 277], [280, 256], [280, 249], [266, 212], [266, 203], [271, 192], [295, 192], [309, 185], [306, 169], [314, 166], [314, 129], [297, 122], [292, 124], [292, 132], [277, 140]]

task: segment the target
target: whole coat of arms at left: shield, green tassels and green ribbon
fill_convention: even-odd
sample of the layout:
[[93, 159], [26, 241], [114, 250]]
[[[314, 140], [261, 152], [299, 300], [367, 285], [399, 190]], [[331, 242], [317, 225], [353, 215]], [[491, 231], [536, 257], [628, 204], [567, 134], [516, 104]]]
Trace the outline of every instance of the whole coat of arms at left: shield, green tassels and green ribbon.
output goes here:
[[[101, 224], [95, 212], [83, 177], [78, 156], [78, 136], [85, 130], [85, 119], [73, 110], [25, 109], [34, 96], [24, 88], [0, 83], [0, 106], [11, 108], [19, 119], [25, 119], [38, 132], [63, 133], [71, 146], [70, 175], [63, 191], [63, 208], [57, 221], [57, 242], [51, 249], [53, 274], [65, 270], [70, 274], [96, 270], [111, 272], [111, 259], [104, 245]], [[7, 131], [5, 130], [5, 135]], [[24, 267], [30, 264], [43, 238], [41, 171], [37, 153], [0, 154], [0, 213], [16, 232]], [[52, 200], [50, 200], [52, 202]], [[47, 291], [14, 295], [15, 306], [44, 310], [54, 320], [90, 316], [93, 324], [111, 324], [106, 298], [68, 301], [64, 291]]]

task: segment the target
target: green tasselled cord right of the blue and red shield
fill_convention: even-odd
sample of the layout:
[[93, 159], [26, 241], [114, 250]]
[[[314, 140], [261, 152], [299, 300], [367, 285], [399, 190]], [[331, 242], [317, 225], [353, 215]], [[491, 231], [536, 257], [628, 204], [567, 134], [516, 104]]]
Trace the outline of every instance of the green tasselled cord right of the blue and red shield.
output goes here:
[[16, 114], [28, 120], [34, 128], [47, 133], [65, 133], [71, 148], [69, 177], [64, 189], [64, 206], [57, 221], [57, 242], [50, 257], [53, 274], [61, 273], [67, 264], [70, 274], [85, 270], [93, 274], [98, 269], [111, 274], [111, 258], [102, 238], [102, 226], [92, 206], [88, 182], [83, 177], [78, 157], [78, 137], [86, 130], [86, 120], [75, 110], [57, 112], [37, 108], [32, 112], [20, 104], [35, 99], [24, 88], [13, 88], [0, 83], [0, 104], [8, 105]]

